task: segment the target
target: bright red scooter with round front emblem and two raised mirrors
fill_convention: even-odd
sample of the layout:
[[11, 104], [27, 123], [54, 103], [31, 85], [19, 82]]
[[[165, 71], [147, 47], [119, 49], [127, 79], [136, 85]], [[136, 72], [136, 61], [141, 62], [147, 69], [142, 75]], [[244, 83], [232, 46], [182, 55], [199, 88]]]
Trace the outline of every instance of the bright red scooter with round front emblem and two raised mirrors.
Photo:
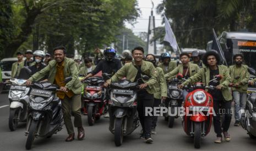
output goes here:
[[[182, 74], [178, 74], [177, 78], [184, 79]], [[216, 78], [213, 80], [220, 79], [221, 75], [216, 75]], [[188, 89], [190, 92], [183, 104], [182, 126], [187, 135], [194, 137], [194, 147], [200, 148], [201, 137], [206, 136], [210, 132], [214, 114], [213, 97], [205, 89], [213, 90], [216, 87], [195, 83], [193, 86], [187, 86], [185, 89]]]

